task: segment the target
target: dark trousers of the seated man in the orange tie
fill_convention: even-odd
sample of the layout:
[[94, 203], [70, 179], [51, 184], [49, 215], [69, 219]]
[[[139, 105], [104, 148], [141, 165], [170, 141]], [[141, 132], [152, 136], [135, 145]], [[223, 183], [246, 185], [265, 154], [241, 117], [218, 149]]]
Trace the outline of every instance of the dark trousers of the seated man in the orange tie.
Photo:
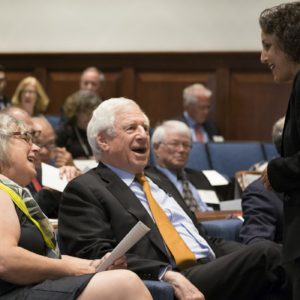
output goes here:
[[281, 248], [275, 243], [261, 241], [206, 264], [198, 263], [182, 274], [206, 300], [288, 299], [280, 253]]

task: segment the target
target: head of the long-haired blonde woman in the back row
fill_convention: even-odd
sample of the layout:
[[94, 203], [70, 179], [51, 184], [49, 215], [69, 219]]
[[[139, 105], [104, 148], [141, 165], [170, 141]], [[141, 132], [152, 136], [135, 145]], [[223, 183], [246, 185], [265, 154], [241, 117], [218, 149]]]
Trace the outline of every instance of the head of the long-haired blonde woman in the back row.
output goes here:
[[23, 108], [30, 116], [38, 116], [46, 112], [49, 98], [35, 77], [26, 77], [18, 84], [12, 104]]

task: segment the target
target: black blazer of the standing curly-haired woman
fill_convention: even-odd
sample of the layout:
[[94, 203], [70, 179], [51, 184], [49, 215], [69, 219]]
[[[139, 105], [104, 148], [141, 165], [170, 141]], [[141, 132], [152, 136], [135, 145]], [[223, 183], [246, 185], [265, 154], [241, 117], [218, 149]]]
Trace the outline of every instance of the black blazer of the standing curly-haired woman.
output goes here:
[[282, 157], [268, 164], [268, 177], [274, 190], [283, 192], [283, 259], [300, 257], [300, 71], [293, 82], [282, 136]]

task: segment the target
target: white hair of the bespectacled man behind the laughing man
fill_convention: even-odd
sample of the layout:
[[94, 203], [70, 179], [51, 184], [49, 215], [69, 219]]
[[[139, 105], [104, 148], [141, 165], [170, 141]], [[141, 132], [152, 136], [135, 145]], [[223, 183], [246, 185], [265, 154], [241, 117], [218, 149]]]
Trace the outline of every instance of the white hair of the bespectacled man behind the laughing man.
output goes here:
[[151, 137], [152, 145], [163, 143], [170, 132], [185, 134], [192, 140], [191, 130], [185, 123], [177, 120], [169, 120], [164, 121], [155, 128]]

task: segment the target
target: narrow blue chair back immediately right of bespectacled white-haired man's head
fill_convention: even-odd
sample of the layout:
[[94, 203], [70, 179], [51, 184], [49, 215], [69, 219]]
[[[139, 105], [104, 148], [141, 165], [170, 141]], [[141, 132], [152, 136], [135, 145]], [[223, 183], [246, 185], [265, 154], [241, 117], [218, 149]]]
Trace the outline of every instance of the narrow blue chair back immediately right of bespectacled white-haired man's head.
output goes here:
[[198, 142], [193, 143], [186, 166], [197, 171], [211, 170], [206, 144]]

